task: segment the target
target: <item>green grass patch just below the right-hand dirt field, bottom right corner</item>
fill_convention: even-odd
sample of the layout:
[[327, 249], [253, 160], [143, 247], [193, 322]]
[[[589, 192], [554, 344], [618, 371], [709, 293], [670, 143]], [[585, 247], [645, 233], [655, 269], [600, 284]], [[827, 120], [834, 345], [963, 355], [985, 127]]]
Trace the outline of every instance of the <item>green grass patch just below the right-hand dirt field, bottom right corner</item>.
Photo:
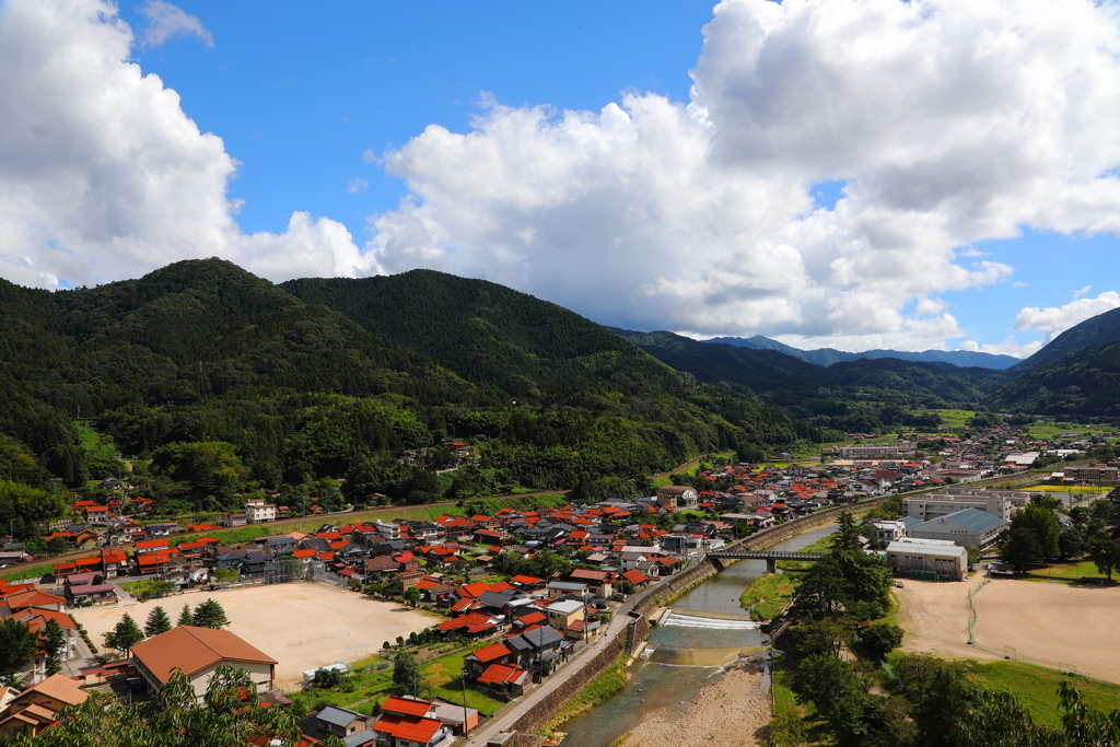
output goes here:
[[977, 676], [993, 690], [1015, 693], [1040, 723], [1061, 726], [1057, 685], [1070, 680], [1090, 706], [1105, 712], [1120, 708], [1120, 685], [1058, 674], [1054, 670], [1023, 662], [991, 662], [977, 667]]

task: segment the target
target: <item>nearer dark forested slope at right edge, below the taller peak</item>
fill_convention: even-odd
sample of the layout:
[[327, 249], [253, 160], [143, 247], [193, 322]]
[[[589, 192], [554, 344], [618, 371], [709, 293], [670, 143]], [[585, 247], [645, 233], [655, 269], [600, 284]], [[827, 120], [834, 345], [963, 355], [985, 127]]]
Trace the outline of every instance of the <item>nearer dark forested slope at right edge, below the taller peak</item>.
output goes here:
[[1120, 343], [1084, 347], [1012, 379], [992, 392], [989, 404], [1007, 412], [1116, 417], [1120, 414]]

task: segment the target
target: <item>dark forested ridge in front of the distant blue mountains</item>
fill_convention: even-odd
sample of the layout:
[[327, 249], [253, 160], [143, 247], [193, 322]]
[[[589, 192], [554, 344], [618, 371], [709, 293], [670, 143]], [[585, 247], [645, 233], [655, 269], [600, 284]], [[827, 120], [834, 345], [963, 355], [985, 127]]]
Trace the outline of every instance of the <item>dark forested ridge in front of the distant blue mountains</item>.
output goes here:
[[1006, 379], [1004, 372], [992, 368], [898, 358], [865, 358], [824, 367], [777, 351], [698, 342], [669, 332], [615, 332], [701, 381], [753, 391], [785, 407], [815, 399], [819, 390], [860, 392], [912, 405], [932, 401], [979, 402], [992, 384]]

